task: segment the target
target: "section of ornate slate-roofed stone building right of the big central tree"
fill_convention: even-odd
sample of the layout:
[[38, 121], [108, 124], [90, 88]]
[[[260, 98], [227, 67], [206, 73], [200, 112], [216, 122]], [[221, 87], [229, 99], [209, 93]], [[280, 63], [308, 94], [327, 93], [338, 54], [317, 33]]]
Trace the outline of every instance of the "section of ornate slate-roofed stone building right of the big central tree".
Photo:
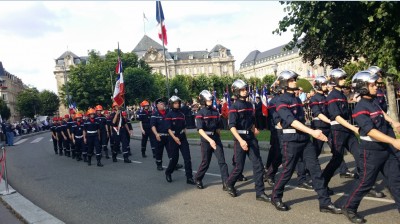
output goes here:
[[[153, 72], [165, 75], [161, 44], [144, 35], [132, 52], [149, 64]], [[233, 76], [235, 73], [235, 59], [231, 51], [219, 44], [210, 51], [181, 51], [178, 48], [176, 52], [169, 52], [165, 49], [165, 56], [169, 77], [201, 74]]]

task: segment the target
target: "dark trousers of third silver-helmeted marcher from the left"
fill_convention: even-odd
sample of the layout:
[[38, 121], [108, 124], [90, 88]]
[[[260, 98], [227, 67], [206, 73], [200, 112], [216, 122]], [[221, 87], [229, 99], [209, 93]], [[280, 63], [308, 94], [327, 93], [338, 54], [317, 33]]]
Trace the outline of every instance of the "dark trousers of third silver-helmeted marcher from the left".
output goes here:
[[247, 142], [248, 151], [244, 151], [240, 143], [234, 140], [234, 158], [236, 165], [229, 175], [226, 185], [229, 187], [235, 186], [237, 180], [243, 172], [246, 155], [253, 163], [253, 180], [255, 183], [256, 194], [264, 194], [264, 181], [263, 181], [263, 163], [260, 156], [260, 148], [258, 147], [258, 140], [251, 135], [240, 135], [243, 140]]

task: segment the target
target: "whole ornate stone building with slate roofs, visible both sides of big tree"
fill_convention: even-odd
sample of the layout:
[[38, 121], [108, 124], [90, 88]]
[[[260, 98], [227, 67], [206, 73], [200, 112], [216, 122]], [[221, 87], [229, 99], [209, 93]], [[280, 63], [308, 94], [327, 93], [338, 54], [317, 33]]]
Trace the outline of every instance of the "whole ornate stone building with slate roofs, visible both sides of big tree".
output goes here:
[[[147, 35], [143, 36], [132, 52], [152, 67], [154, 73], [166, 74], [163, 47]], [[233, 76], [235, 73], [235, 60], [231, 51], [219, 44], [210, 51], [181, 51], [178, 48], [176, 52], [169, 52], [168, 49], [165, 49], [165, 55], [169, 78], [175, 75], [197, 76], [201, 74]], [[55, 59], [56, 65], [53, 73], [57, 81], [59, 97], [61, 88], [68, 80], [71, 66], [85, 63], [87, 59], [87, 56], [77, 56], [71, 51], [66, 51]], [[68, 112], [68, 108], [60, 104], [59, 114], [62, 116]]]

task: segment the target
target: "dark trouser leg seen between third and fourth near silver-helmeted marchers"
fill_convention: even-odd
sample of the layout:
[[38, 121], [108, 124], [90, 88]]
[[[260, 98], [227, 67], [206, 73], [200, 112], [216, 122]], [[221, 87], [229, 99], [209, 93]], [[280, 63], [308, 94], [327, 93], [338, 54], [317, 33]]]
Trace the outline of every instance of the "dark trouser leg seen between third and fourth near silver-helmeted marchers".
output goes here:
[[265, 176], [275, 178], [279, 166], [282, 164], [281, 153], [282, 129], [273, 129], [271, 131], [270, 149], [268, 151], [267, 164], [265, 165]]

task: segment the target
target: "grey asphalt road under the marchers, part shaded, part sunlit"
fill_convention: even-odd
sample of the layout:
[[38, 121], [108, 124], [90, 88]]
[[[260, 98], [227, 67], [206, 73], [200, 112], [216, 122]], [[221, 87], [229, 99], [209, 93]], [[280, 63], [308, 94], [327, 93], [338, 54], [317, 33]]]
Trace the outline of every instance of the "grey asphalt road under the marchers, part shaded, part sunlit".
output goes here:
[[[221, 189], [215, 157], [203, 180], [206, 188], [199, 190], [186, 184], [181, 170], [172, 174], [172, 183], [167, 183], [164, 172], [156, 170], [149, 146], [150, 156], [140, 156], [137, 140], [131, 141], [134, 163], [103, 159], [102, 168], [55, 155], [52, 147], [50, 133], [9, 147], [9, 182], [23, 196], [66, 223], [348, 223], [343, 215], [320, 213], [316, 193], [310, 190], [286, 188], [284, 201], [291, 207], [288, 212], [278, 212], [271, 204], [256, 201], [249, 160], [244, 174], [250, 180], [238, 182], [239, 196], [231, 198]], [[193, 170], [197, 170], [200, 147], [191, 146], [191, 154]], [[232, 149], [225, 149], [229, 171], [232, 154]], [[262, 158], [265, 162], [267, 152], [262, 152]], [[325, 166], [328, 159], [329, 155], [323, 154], [321, 164]], [[351, 161], [350, 156], [346, 160]], [[167, 162], [164, 153], [163, 165]], [[353, 167], [354, 163], [349, 165]], [[296, 186], [295, 177], [289, 182], [291, 186]], [[335, 203], [341, 205], [341, 193], [349, 191], [349, 182], [338, 175], [332, 179], [333, 190], [338, 193], [332, 197]], [[382, 180], [378, 183], [382, 189]], [[271, 193], [267, 184], [266, 193]], [[400, 215], [390, 196], [381, 200], [366, 198], [359, 211], [368, 223], [399, 223]]]

